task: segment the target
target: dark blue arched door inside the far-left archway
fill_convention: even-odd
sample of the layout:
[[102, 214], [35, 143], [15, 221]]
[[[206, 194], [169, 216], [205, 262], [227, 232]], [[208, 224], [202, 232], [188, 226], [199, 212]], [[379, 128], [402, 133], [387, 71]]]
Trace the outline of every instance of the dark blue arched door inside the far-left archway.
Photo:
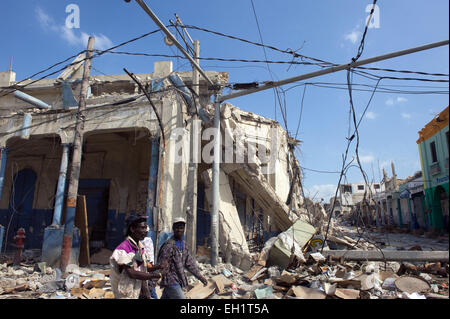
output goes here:
[[36, 184], [36, 173], [31, 169], [23, 169], [14, 176], [14, 182], [11, 189], [11, 198], [9, 201], [8, 218], [8, 242], [7, 249], [12, 250], [14, 246], [13, 238], [19, 228], [25, 229], [25, 249], [33, 247], [33, 233], [37, 230], [31, 229], [33, 225], [33, 200]]

